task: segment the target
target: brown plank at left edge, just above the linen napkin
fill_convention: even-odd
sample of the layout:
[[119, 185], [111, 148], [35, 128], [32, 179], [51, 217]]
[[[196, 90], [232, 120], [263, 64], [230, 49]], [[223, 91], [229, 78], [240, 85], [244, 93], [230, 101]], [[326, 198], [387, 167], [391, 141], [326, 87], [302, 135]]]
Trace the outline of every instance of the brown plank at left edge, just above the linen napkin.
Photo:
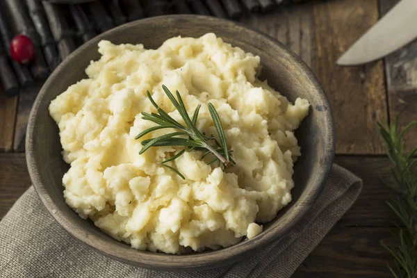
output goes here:
[[0, 154], [0, 219], [29, 186], [24, 154]]

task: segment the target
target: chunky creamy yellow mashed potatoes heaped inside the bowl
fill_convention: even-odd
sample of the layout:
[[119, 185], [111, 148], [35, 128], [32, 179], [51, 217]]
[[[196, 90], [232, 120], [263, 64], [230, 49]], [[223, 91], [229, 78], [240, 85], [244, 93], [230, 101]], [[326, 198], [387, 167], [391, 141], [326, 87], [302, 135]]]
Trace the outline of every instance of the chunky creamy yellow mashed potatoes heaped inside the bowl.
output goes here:
[[[99, 53], [85, 70], [88, 79], [49, 106], [71, 165], [63, 177], [65, 200], [82, 218], [139, 250], [180, 254], [252, 238], [291, 201], [293, 161], [300, 156], [293, 131], [309, 102], [291, 104], [259, 81], [258, 56], [213, 33], [171, 38], [158, 49], [101, 41]], [[140, 115], [156, 112], [147, 90], [183, 123], [163, 84], [179, 90], [190, 115], [201, 104], [197, 127], [217, 136], [207, 104], [215, 106], [236, 165], [222, 171], [206, 165], [210, 158], [202, 160], [202, 152], [186, 152], [168, 164], [183, 180], [157, 164], [181, 148], [138, 154], [141, 140], [172, 132], [135, 140], [154, 126]]]

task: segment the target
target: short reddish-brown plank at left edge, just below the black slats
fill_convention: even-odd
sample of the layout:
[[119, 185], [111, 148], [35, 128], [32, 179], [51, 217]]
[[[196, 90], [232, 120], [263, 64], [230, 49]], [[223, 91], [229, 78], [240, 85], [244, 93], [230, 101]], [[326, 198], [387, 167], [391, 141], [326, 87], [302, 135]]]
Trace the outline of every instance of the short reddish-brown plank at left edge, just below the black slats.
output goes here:
[[0, 152], [12, 151], [17, 99], [18, 96], [6, 97], [0, 84]]

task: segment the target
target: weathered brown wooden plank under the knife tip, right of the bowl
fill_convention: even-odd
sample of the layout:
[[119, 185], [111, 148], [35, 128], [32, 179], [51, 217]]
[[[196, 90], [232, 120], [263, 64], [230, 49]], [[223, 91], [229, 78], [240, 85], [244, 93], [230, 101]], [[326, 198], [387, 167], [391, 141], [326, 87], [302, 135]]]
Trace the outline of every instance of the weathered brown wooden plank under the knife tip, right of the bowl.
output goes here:
[[338, 154], [384, 153], [375, 128], [388, 110], [382, 61], [358, 67], [335, 64], [377, 19], [377, 0], [317, 1], [313, 7], [313, 70], [332, 104]]

